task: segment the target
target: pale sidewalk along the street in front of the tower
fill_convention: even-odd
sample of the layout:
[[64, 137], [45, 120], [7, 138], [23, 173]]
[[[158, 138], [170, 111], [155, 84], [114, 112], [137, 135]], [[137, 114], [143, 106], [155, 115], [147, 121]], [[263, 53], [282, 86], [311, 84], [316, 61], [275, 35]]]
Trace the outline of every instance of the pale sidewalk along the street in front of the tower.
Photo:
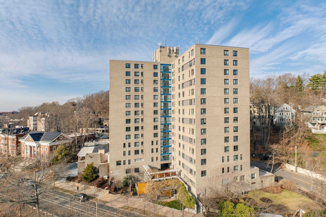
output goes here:
[[[77, 183], [76, 183], [77, 184]], [[55, 187], [58, 188], [62, 188], [62, 189], [66, 189], [72, 192], [76, 192], [76, 193], [84, 193], [88, 196], [91, 197], [95, 197], [98, 198], [99, 194], [101, 193], [101, 190], [99, 189], [89, 189], [89, 188], [84, 188], [83, 184], [78, 185], [79, 186], [79, 191], [77, 192], [77, 185], [74, 185], [72, 183], [69, 182], [65, 182], [65, 181], [61, 181], [61, 182], [57, 182], [55, 183]], [[120, 196], [120, 195], [113, 195], [113, 194], [108, 194], [106, 190], [104, 190], [101, 194], [101, 197], [99, 198], [100, 200], [103, 201], [107, 201], [106, 203], [104, 203], [107, 206], [110, 207], [114, 207], [114, 208], [120, 208], [120, 207], [126, 207], [127, 203], [128, 203], [128, 207], [134, 207], [140, 210], [144, 210], [144, 206], [145, 206], [145, 210], [146, 206], [148, 206], [148, 202], [145, 200], [145, 198], [138, 198], [138, 197], [132, 197], [132, 198], [128, 198], [126, 196]], [[163, 207], [160, 206], [161, 208], [160, 213], [162, 213], [165, 216], [172, 216], [172, 209], [168, 208], [168, 207]], [[184, 212], [184, 216], [185, 217], [203, 217], [202, 213], [191, 213], [191, 212]], [[182, 217], [182, 211], [180, 210], [174, 210], [173, 211], [173, 217]]]

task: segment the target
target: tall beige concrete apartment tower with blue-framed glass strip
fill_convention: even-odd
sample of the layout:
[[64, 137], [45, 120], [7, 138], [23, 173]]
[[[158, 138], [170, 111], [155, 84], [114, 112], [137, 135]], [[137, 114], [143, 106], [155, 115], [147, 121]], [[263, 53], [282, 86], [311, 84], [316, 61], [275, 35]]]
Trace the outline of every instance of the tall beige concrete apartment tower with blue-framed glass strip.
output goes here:
[[249, 49], [159, 46], [153, 60], [110, 60], [110, 175], [180, 169], [197, 194], [213, 176], [261, 185], [250, 167]]

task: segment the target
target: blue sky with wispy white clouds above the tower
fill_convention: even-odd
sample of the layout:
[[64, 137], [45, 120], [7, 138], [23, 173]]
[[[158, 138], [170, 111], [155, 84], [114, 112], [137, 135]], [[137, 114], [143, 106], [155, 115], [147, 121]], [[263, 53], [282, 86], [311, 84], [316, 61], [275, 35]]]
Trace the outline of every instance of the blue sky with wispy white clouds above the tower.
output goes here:
[[322, 73], [325, 1], [0, 0], [0, 111], [109, 88], [109, 59], [157, 42], [250, 48], [250, 75]]

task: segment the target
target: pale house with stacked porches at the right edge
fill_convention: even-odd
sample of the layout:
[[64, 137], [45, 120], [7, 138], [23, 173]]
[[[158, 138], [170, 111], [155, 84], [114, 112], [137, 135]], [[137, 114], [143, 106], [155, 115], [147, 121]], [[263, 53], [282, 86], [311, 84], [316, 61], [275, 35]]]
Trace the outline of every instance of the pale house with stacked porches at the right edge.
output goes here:
[[326, 133], [326, 106], [311, 105], [301, 111], [307, 127], [313, 133]]

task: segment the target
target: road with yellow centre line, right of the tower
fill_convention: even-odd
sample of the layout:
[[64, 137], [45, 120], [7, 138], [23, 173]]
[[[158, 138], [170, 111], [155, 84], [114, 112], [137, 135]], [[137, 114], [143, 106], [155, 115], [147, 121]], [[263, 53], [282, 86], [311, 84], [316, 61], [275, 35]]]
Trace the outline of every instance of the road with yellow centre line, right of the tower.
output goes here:
[[[265, 170], [268, 172], [270, 172], [272, 169], [272, 166], [266, 165], [262, 162], [251, 161], [250, 164], [255, 167], [258, 167], [261, 170]], [[296, 183], [297, 185], [304, 187], [306, 189], [310, 189], [310, 187], [311, 187], [311, 179], [308, 175], [304, 175], [302, 173], [294, 173], [287, 169], [278, 168], [276, 166], [273, 167], [272, 173], [275, 175], [278, 175], [280, 180], [282, 180], [282, 179], [291, 180], [294, 183]], [[325, 183], [325, 185], [326, 185], [326, 183]], [[316, 190], [315, 186], [313, 186], [313, 191], [314, 190]]]

